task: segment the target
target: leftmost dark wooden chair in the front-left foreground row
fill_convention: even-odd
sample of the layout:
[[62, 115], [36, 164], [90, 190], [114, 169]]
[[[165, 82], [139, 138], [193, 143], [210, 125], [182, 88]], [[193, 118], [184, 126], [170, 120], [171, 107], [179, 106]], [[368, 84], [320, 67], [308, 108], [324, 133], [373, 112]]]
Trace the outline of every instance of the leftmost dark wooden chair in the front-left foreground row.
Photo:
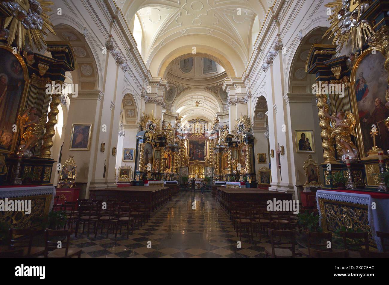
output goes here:
[[[36, 229], [15, 229], [11, 227], [9, 229], [9, 249], [18, 250], [22, 249], [22, 257], [37, 257], [42, 255], [45, 251], [44, 247], [33, 247], [32, 241], [35, 236]], [[19, 236], [14, 238], [14, 235]]]

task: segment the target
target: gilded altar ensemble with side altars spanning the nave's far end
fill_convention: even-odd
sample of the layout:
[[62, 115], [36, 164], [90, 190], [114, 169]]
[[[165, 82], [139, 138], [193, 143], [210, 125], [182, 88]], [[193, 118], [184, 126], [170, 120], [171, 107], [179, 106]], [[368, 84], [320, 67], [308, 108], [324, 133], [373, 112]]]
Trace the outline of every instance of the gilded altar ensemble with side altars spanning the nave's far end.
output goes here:
[[[144, 180], [256, 181], [254, 136], [247, 115], [237, 119], [232, 134], [220, 126], [196, 118], [181, 124], [162, 124], [144, 114], [137, 134], [135, 185]], [[235, 136], [234, 136], [235, 135]], [[210, 184], [210, 183], [209, 183]]]

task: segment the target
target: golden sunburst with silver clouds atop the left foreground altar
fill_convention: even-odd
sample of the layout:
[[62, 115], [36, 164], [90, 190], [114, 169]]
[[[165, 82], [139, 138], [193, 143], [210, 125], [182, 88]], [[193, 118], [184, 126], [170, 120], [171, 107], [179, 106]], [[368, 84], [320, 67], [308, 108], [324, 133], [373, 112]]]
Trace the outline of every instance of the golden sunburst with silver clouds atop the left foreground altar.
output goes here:
[[7, 33], [8, 44], [11, 45], [15, 40], [18, 49], [25, 46], [26, 38], [30, 46], [35, 46], [39, 51], [42, 44], [46, 44], [44, 37], [50, 33], [55, 34], [53, 24], [47, 12], [52, 12], [49, 8], [54, 3], [42, 0], [9, 0], [0, 1], [3, 9], [7, 10], [12, 16], [5, 18], [2, 27]]

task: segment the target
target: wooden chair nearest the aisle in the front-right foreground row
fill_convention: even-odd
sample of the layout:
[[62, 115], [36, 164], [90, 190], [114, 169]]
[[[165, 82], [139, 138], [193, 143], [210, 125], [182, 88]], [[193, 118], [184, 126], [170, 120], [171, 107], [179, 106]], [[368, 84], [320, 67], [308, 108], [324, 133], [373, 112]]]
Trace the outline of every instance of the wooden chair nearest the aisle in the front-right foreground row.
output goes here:
[[[266, 257], [294, 258], [296, 257], [296, 231], [268, 229], [272, 247], [265, 247]], [[279, 237], [279, 239], [276, 239]]]

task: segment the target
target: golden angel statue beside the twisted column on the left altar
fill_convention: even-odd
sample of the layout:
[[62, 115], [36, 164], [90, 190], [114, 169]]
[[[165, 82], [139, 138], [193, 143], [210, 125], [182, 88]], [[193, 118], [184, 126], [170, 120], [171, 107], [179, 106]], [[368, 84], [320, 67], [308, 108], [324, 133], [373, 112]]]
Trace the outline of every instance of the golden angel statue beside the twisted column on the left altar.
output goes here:
[[23, 115], [18, 116], [20, 128], [18, 154], [20, 156], [32, 157], [30, 149], [37, 145], [42, 130], [45, 129], [46, 113], [39, 117], [36, 115], [37, 111], [37, 108], [30, 106], [23, 112]]

